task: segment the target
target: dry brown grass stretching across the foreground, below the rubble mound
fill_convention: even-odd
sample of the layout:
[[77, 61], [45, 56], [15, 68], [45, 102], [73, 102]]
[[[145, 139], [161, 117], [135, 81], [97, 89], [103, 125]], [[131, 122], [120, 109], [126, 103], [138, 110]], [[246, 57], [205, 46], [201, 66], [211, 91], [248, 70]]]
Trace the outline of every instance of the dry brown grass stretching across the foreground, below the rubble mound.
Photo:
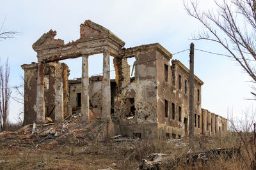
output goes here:
[[[237, 134], [229, 133], [220, 138], [201, 137], [195, 141], [196, 152], [212, 148], [240, 147], [241, 155], [235, 155], [232, 159], [221, 156], [206, 163], [187, 164], [182, 156], [189, 150], [188, 143], [188, 139], [184, 138], [123, 143], [83, 142], [83, 145], [66, 143], [49, 150], [0, 148], [0, 169], [103, 169], [108, 166], [113, 169], [138, 169], [141, 160], [150, 153], [168, 153], [173, 158], [179, 157], [179, 162], [173, 169], [247, 169], [244, 160], [250, 164], [246, 148]], [[165, 166], [162, 169], [170, 168]]]

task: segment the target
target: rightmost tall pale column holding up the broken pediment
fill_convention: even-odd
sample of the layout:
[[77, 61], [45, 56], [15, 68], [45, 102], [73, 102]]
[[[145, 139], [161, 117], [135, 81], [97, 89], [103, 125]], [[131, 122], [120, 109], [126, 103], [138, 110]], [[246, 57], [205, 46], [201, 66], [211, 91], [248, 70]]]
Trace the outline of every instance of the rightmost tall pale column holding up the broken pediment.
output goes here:
[[111, 120], [109, 52], [103, 53], [102, 120]]

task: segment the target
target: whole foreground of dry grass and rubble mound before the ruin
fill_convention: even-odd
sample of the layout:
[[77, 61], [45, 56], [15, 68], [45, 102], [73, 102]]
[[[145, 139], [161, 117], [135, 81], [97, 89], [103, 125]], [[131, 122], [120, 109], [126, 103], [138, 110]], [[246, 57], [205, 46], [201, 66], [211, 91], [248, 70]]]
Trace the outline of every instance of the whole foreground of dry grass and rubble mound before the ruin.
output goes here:
[[155, 153], [166, 154], [168, 159], [175, 160], [175, 164], [164, 160], [165, 166], [156, 169], [256, 167], [253, 159], [256, 138], [250, 133], [196, 136], [194, 152], [239, 148], [241, 153], [232, 159], [215, 157], [188, 164], [185, 158], [190, 149], [188, 138], [141, 140], [119, 136], [106, 139], [107, 126], [108, 123], [97, 119], [90, 124], [80, 124], [79, 116], [72, 115], [63, 124], [26, 125], [15, 132], [1, 132], [0, 169], [140, 169], [143, 159], [148, 160]]

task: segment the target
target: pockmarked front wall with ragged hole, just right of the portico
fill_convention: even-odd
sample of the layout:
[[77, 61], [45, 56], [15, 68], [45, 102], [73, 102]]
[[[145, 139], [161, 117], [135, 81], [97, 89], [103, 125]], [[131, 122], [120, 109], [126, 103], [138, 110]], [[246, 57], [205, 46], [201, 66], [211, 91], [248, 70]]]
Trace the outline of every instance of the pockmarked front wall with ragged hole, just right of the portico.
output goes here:
[[[130, 78], [129, 69], [119, 71], [122, 74], [118, 74], [114, 120], [120, 124], [122, 134], [156, 138], [156, 50], [144, 50], [135, 53], [134, 57], [135, 77]], [[126, 60], [120, 63], [126, 65], [125, 69], [129, 68]]]

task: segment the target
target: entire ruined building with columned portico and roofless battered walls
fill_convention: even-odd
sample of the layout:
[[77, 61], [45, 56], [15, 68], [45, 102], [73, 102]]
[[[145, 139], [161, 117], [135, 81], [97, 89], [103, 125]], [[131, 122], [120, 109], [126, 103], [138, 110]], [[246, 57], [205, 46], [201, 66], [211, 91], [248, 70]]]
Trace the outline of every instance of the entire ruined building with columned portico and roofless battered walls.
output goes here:
[[[64, 44], [56, 31], [43, 34], [34, 44], [38, 63], [23, 64], [24, 124], [44, 124], [46, 117], [63, 122], [72, 110], [89, 111], [111, 122], [113, 132], [139, 138], [180, 138], [189, 128], [189, 69], [159, 43], [124, 48], [124, 41], [111, 31], [86, 20], [80, 38]], [[103, 53], [102, 76], [88, 77], [88, 57]], [[109, 56], [113, 56], [115, 80], [110, 79]], [[68, 80], [67, 64], [60, 60], [83, 57], [82, 74]], [[130, 77], [127, 58], [136, 61]], [[201, 109], [201, 86], [195, 78], [195, 134], [225, 134], [227, 119]]]

